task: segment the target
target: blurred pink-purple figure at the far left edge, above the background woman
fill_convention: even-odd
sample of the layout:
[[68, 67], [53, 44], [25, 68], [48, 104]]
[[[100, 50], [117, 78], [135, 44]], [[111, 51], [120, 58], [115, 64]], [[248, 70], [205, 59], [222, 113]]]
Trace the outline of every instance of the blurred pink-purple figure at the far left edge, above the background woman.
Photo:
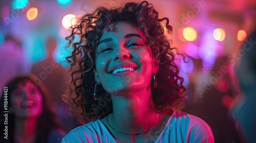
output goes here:
[[[4, 85], [16, 75], [28, 75], [30, 64], [26, 60], [22, 43], [12, 36], [6, 36], [0, 46], [0, 95], [2, 96]], [[0, 97], [1, 98], [1, 97]]]

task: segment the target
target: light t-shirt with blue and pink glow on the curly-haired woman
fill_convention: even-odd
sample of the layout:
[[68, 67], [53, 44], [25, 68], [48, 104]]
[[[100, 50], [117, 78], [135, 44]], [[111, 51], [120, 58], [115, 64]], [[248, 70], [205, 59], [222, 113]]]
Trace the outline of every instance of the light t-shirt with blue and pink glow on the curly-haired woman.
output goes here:
[[[214, 142], [210, 127], [199, 117], [174, 110], [163, 131], [156, 140], [148, 138], [144, 142]], [[62, 142], [117, 142], [105, 125], [92, 121], [70, 131]]]

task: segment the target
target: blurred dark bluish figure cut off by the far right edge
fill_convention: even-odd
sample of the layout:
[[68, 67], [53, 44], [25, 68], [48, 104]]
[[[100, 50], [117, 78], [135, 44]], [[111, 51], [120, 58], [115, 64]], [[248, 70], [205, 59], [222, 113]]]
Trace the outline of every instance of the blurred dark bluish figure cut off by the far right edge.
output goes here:
[[246, 142], [255, 142], [256, 135], [256, 30], [245, 39], [240, 49], [244, 54], [237, 68], [242, 95], [232, 108], [241, 135]]

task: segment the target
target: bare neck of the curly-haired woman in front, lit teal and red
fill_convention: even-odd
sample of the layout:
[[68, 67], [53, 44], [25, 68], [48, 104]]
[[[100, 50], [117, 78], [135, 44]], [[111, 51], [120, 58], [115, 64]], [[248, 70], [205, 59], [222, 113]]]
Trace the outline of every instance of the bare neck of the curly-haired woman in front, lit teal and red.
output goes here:
[[112, 103], [113, 114], [108, 117], [109, 123], [119, 131], [141, 132], [156, 121], [150, 88], [112, 96]]

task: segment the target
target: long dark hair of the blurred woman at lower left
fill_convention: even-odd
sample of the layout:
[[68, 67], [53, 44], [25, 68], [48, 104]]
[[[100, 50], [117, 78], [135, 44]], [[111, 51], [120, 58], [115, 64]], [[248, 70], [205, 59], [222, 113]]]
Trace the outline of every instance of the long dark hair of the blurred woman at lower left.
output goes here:
[[[11, 93], [12, 91], [17, 87], [19, 83], [22, 83], [23, 85], [26, 85], [26, 81], [30, 81], [34, 83], [35, 86], [39, 89], [41, 92], [42, 96], [42, 113], [38, 118], [38, 126], [37, 126], [37, 137], [36, 137], [36, 142], [47, 142], [47, 139], [49, 137], [49, 133], [53, 129], [59, 129], [61, 131], [65, 131], [65, 129], [62, 127], [60, 124], [59, 119], [57, 118], [57, 114], [55, 109], [52, 107], [51, 101], [50, 101], [50, 93], [48, 90], [45, 88], [43, 84], [37, 85], [34, 81], [36, 80], [34, 78], [35, 76], [30, 75], [30, 76], [20, 76], [14, 78], [12, 81], [10, 81], [5, 87], [8, 87], [8, 94], [7, 94], [7, 99], [8, 99], [8, 109], [12, 108], [11, 107]], [[3, 118], [4, 114], [4, 96], [5, 94], [2, 94], [1, 100], [0, 100], [0, 114], [1, 114], [1, 119]], [[3, 123], [0, 124], [0, 129], [3, 131], [5, 129], [5, 126]], [[10, 142], [13, 142], [14, 140], [14, 130], [15, 130], [15, 116], [14, 113], [9, 112], [8, 113], [8, 140]], [[5, 141], [7, 139], [4, 138], [4, 134], [1, 134], [0, 141]], [[61, 138], [60, 138], [61, 139]]]

